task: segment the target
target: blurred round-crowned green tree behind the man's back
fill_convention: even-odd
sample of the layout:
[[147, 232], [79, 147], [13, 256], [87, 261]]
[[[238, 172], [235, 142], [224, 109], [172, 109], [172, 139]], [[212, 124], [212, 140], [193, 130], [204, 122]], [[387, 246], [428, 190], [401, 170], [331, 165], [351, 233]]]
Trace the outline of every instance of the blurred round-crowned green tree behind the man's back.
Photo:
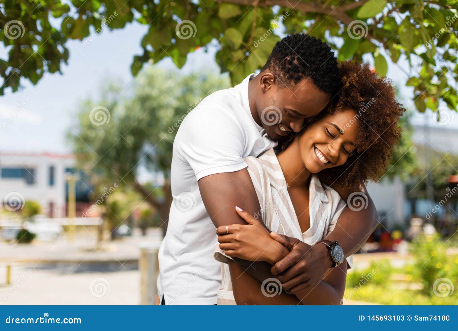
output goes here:
[[[229, 87], [229, 78], [205, 73], [181, 76], [156, 67], [144, 71], [131, 98], [120, 101], [122, 89], [110, 86], [99, 101], [83, 102], [69, 138], [79, 166], [91, 169], [96, 182], [133, 188], [165, 224], [172, 203], [170, 165], [176, 131], [203, 98]], [[155, 174], [152, 183], [140, 182], [141, 168]]]

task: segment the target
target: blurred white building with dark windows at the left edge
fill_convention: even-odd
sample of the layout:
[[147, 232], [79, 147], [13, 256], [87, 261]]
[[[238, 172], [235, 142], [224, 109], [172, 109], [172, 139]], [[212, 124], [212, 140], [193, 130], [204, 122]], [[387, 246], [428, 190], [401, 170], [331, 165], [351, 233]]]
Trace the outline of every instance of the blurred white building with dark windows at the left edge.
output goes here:
[[[37, 201], [42, 214], [48, 217], [66, 217], [68, 193], [67, 173], [74, 173], [72, 154], [0, 153], [0, 198], [17, 192], [22, 200]], [[83, 179], [76, 182], [77, 215], [82, 204], [89, 204], [90, 185]]]

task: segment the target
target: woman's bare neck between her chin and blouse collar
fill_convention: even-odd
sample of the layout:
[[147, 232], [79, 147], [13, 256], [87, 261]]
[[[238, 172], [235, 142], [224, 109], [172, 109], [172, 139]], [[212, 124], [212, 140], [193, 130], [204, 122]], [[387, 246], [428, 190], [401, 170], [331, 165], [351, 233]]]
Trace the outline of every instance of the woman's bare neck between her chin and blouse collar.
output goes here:
[[300, 157], [300, 142], [294, 139], [291, 144], [277, 155], [278, 163], [282, 168], [286, 184], [291, 186], [304, 186], [310, 178], [310, 171]]

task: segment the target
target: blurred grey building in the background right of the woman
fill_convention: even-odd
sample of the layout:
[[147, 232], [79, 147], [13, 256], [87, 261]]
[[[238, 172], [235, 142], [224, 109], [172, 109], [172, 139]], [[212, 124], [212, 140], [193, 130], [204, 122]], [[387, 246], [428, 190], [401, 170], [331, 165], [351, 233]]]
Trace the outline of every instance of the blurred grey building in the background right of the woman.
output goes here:
[[[439, 125], [428, 127], [414, 125], [413, 129], [412, 141], [421, 164], [428, 162], [430, 158], [428, 153], [442, 152], [458, 155], [457, 129], [449, 129]], [[431, 165], [430, 168], [434, 166]], [[458, 169], [458, 164], [453, 166]], [[383, 183], [369, 184], [367, 190], [376, 205], [379, 219], [383, 220], [384, 227], [390, 231], [396, 227], [407, 227], [413, 214], [425, 218], [425, 215], [431, 211], [431, 205], [436, 205], [434, 201], [428, 201], [424, 196], [413, 194], [412, 188], [418, 183], [404, 183], [399, 179], [394, 181], [382, 179], [382, 181]], [[439, 199], [445, 194], [444, 192], [434, 193], [438, 195]], [[435, 216], [440, 216], [446, 212], [447, 208], [442, 208]]]

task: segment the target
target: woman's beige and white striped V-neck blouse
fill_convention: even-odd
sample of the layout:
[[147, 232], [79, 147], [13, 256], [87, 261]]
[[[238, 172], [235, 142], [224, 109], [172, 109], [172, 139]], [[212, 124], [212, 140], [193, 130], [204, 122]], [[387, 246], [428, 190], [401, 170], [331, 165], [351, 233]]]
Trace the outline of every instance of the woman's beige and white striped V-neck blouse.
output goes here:
[[[338, 217], [347, 205], [335, 190], [323, 186], [316, 175], [312, 175], [310, 180], [310, 228], [302, 233], [289, 198], [282, 169], [273, 149], [258, 158], [245, 157], [245, 162], [261, 206], [262, 220], [267, 228], [300, 239], [310, 245], [326, 238], [327, 234], [333, 231]], [[235, 304], [227, 264], [230, 257], [224, 255], [224, 250], [220, 250], [216, 245], [214, 258], [222, 262], [223, 282], [218, 290], [218, 304]], [[349, 256], [347, 262], [351, 267], [353, 257]]]

